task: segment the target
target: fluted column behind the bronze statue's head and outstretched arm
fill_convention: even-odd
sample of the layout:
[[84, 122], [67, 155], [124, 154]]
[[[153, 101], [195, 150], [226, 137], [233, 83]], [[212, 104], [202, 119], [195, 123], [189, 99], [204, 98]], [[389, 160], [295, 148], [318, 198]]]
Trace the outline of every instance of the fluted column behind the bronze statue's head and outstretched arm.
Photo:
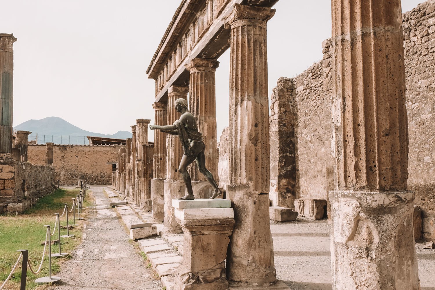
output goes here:
[[[175, 110], [175, 100], [187, 99], [188, 87], [171, 86], [167, 94], [167, 124], [173, 124], [180, 117]], [[181, 233], [181, 227], [175, 220], [172, 200], [185, 194], [186, 186], [178, 173], [184, 151], [178, 137], [167, 134], [166, 137], [166, 180], [164, 181], [164, 227], [167, 232]]]

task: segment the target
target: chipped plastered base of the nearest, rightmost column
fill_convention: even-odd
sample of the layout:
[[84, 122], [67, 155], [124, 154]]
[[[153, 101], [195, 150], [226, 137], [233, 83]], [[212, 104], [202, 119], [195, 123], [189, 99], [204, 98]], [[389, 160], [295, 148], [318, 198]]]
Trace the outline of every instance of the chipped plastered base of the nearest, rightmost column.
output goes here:
[[332, 290], [419, 290], [415, 194], [330, 191]]

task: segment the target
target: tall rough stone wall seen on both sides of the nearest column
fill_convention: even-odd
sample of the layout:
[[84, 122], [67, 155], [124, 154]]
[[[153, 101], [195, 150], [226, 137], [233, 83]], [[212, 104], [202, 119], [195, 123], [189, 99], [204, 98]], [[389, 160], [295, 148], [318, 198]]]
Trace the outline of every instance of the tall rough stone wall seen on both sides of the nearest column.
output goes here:
[[[419, 4], [403, 15], [405, 38], [406, 97], [409, 127], [409, 178], [408, 190], [416, 193], [415, 203], [423, 210], [423, 235], [435, 238], [435, 0]], [[281, 117], [294, 123], [287, 134], [295, 136], [296, 195], [298, 198], [326, 199], [334, 188], [334, 158], [331, 154], [331, 41], [322, 43], [323, 59], [313, 64], [291, 82], [292, 93], [282, 90], [282, 80], [272, 94], [271, 128], [275, 119]], [[285, 115], [286, 110], [276, 110], [275, 103], [287, 99], [294, 101], [294, 115]], [[285, 103], [279, 108], [285, 107]], [[337, 109], [338, 110], [338, 109]], [[277, 117], [274, 114], [279, 114]], [[294, 118], [294, 119], [291, 119]], [[273, 132], [272, 132], [273, 133]], [[281, 133], [285, 136], [285, 133]], [[278, 141], [271, 141], [271, 172], [274, 172], [274, 154], [280, 153]], [[291, 143], [289, 143], [291, 146]], [[272, 176], [285, 172], [283, 167]], [[271, 178], [271, 193], [276, 181]], [[287, 192], [291, 195], [291, 191]], [[274, 197], [271, 196], [273, 200]]]

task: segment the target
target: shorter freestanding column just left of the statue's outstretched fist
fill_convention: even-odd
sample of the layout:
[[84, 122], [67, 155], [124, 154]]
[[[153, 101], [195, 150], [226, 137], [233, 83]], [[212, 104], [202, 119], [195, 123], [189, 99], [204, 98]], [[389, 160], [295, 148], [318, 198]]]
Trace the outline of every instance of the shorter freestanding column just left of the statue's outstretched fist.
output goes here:
[[144, 157], [143, 145], [148, 144], [148, 124], [151, 120], [137, 119], [136, 120], [136, 166], [135, 166], [135, 186], [134, 190], [137, 196], [136, 204], [141, 206], [141, 210], [144, 212], [151, 211], [151, 196], [146, 196], [145, 190], [145, 174], [144, 167], [146, 165], [146, 159]]

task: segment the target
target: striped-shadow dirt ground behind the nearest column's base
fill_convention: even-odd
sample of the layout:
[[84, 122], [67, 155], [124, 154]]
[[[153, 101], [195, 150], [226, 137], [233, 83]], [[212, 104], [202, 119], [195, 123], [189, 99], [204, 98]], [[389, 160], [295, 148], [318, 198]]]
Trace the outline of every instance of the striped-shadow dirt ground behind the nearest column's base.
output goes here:
[[[326, 220], [271, 223], [278, 279], [292, 290], [331, 290], [329, 229]], [[435, 250], [415, 245], [422, 290], [435, 290]]]

